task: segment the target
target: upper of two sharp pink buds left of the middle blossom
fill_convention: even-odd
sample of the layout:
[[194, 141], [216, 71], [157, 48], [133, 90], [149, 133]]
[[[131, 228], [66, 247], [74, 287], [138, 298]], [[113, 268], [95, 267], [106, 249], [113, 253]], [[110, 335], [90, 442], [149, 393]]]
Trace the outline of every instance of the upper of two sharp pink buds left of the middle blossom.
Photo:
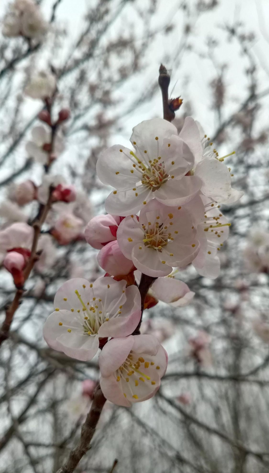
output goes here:
[[85, 238], [89, 245], [101, 250], [104, 245], [116, 240], [118, 226], [122, 217], [116, 215], [96, 215], [85, 228]]

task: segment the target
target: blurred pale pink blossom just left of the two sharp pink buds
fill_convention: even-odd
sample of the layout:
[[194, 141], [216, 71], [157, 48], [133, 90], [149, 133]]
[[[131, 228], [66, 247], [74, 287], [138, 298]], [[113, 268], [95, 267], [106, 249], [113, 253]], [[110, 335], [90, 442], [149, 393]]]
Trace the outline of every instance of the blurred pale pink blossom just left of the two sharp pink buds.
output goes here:
[[75, 217], [73, 213], [62, 212], [54, 223], [51, 234], [60, 245], [68, 245], [71, 241], [79, 238], [83, 225], [83, 220]]

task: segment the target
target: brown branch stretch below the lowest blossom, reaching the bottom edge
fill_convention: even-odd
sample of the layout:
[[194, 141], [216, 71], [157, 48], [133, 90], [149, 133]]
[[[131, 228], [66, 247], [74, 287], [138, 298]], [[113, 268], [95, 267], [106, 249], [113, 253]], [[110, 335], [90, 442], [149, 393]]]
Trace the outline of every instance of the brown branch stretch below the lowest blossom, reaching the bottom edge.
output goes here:
[[90, 449], [90, 441], [95, 433], [97, 422], [100, 418], [106, 399], [101, 391], [100, 385], [97, 385], [90, 411], [81, 427], [81, 436], [79, 444], [71, 450], [68, 460], [61, 466], [56, 473], [72, 473], [77, 467], [79, 461]]

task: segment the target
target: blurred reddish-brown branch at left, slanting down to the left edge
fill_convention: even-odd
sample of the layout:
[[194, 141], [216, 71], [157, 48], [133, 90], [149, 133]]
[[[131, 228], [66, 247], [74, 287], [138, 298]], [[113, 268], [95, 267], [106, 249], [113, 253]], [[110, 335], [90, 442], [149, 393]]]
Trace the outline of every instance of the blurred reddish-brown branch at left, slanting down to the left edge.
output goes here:
[[[26, 264], [25, 270], [24, 270], [24, 282], [28, 279], [30, 272], [32, 271], [34, 264], [36, 260], [38, 259], [38, 255], [36, 254], [37, 250], [37, 244], [38, 244], [38, 238], [40, 236], [41, 232], [41, 227], [48, 215], [48, 212], [51, 208], [52, 205], [52, 191], [53, 187], [50, 188], [49, 192], [49, 198], [48, 201], [45, 205], [42, 206], [41, 212], [39, 212], [38, 219], [35, 219], [33, 222], [33, 227], [34, 227], [34, 238], [33, 238], [33, 243], [32, 243], [32, 248], [31, 248], [31, 254], [29, 257], [29, 260]], [[9, 307], [6, 308], [6, 317], [5, 320], [0, 328], [0, 345], [1, 343], [6, 340], [9, 336], [9, 328], [13, 320], [13, 316], [19, 307], [20, 304], [20, 299], [24, 293], [24, 289], [19, 288], [16, 291], [16, 294], [14, 296], [13, 301], [9, 305]]]

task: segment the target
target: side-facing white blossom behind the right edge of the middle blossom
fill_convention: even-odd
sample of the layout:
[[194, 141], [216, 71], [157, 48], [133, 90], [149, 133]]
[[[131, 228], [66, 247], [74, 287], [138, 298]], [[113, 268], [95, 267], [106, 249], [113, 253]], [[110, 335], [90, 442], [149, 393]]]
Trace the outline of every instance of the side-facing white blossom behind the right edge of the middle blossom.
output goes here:
[[196, 271], [206, 278], [216, 279], [220, 271], [217, 253], [229, 236], [231, 225], [220, 210], [220, 205], [203, 196], [205, 204], [204, 220], [197, 226], [200, 251], [192, 261]]

